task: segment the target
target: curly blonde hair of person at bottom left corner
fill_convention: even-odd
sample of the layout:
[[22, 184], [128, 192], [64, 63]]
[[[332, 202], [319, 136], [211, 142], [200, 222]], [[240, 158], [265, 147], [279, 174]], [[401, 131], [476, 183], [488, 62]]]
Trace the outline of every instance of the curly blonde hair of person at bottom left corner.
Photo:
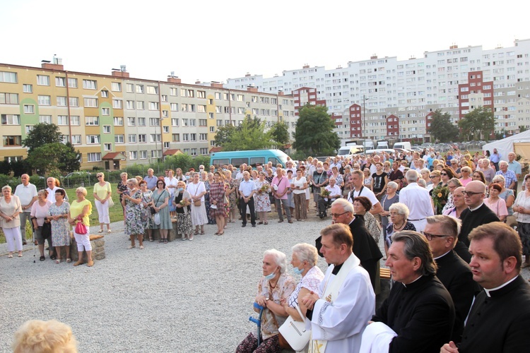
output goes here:
[[14, 353], [76, 353], [77, 341], [69, 325], [55, 320], [31, 320], [16, 331], [11, 348]]

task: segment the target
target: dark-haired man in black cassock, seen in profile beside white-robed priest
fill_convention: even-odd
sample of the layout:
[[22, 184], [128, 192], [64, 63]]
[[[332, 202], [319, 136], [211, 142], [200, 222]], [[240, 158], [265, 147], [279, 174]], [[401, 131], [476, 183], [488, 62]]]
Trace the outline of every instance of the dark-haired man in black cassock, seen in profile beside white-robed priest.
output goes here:
[[396, 283], [372, 321], [384, 323], [396, 333], [389, 344], [390, 353], [440, 352], [440, 342], [443, 345], [452, 335], [454, 305], [435, 275], [429, 244], [422, 234], [411, 231], [396, 232], [392, 241], [385, 265]]

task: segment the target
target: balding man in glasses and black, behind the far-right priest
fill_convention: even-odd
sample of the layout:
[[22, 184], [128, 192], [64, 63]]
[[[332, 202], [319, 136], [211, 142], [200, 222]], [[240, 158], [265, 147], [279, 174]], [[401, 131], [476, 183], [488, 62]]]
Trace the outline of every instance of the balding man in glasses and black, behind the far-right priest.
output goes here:
[[469, 239], [468, 235], [471, 230], [475, 229], [479, 225], [485, 225], [490, 222], [499, 222], [499, 217], [493, 213], [490, 208], [484, 204], [486, 187], [482, 181], [473, 180], [469, 181], [466, 185], [464, 193], [464, 202], [467, 205], [467, 209], [463, 210], [460, 219], [462, 220], [462, 227], [458, 236], [458, 243], [454, 246], [454, 251], [469, 263], [471, 261], [471, 255], [469, 255], [468, 246]]

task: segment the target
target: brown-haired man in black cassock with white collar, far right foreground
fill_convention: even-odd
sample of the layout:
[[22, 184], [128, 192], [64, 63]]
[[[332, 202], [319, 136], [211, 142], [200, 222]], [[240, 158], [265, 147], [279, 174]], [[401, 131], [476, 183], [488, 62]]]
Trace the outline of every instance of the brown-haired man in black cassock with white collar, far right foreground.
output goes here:
[[476, 296], [461, 343], [441, 353], [527, 352], [530, 347], [530, 286], [521, 275], [522, 245], [502, 222], [481, 225], [469, 234], [473, 280], [484, 289]]

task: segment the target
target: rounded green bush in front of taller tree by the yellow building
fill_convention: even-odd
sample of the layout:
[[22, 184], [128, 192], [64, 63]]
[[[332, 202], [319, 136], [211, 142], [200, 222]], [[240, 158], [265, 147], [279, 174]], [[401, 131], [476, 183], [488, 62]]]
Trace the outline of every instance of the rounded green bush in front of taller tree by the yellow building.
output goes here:
[[79, 152], [71, 145], [60, 142], [46, 143], [28, 154], [28, 163], [40, 174], [59, 175], [59, 172], [75, 172], [81, 167]]

